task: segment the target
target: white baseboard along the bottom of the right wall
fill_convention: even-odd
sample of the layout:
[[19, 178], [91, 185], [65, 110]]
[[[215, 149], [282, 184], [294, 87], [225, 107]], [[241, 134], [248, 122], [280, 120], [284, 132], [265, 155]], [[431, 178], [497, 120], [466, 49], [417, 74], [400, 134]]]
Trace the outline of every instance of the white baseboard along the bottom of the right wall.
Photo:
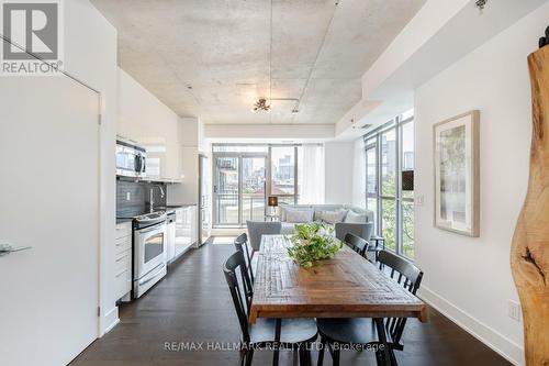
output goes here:
[[419, 289], [418, 297], [513, 365], [524, 365], [524, 348], [520, 345], [459, 309], [425, 286], [422, 286]]

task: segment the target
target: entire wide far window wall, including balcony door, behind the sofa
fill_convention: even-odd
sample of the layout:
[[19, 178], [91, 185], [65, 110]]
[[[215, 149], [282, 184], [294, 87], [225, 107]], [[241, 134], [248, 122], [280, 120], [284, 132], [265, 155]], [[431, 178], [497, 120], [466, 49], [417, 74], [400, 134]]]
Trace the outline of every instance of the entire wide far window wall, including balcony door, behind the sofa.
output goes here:
[[214, 144], [212, 153], [216, 228], [265, 220], [269, 196], [279, 204], [323, 203], [322, 145]]

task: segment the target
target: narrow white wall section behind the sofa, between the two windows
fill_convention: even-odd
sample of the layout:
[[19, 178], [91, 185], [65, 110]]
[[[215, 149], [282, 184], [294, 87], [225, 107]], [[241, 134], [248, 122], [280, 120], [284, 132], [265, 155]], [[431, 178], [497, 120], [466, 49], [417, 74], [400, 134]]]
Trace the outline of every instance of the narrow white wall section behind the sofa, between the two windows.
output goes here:
[[325, 203], [351, 203], [352, 152], [354, 144], [351, 142], [329, 142], [324, 144]]

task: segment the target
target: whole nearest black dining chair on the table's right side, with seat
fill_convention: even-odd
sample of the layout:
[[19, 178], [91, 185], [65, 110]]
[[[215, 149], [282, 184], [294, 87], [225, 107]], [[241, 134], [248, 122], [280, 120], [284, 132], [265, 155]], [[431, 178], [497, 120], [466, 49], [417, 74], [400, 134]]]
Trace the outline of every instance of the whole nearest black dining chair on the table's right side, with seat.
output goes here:
[[[406, 290], [416, 293], [423, 278], [423, 271], [412, 262], [395, 254], [381, 251], [378, 256], [380, 270], [385, 273]], [[383, 350], [379, 350], [381, 342], [378, 339], [373, 322], [369, 318], [349, 319], [317, 319], [318, 333], [321, 335], [322, 350], [318, 352], [317, 365], [322, 366], [324, 361], [324, 348], [327, 346], [332, 354], [333, 365], [339, 365], [341, 345], [358, 350], [377, 350], [376, 359], [378, 365], [382, 364]], [[383, 320], [389, 343], [389, 355], [392, 365], [396, 365], [394, 351], [404, 350], [401, 343], [406, 318], [389, 318]]]

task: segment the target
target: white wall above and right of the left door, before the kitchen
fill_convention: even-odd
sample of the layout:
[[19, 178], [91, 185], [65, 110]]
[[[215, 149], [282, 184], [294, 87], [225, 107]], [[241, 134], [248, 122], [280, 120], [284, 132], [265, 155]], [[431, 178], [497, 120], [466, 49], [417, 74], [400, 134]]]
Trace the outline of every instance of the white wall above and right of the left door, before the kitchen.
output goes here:
[[[116, 30], [88, 0], [64, 1], [65, 70], [101, 92], [100, 334], [117, 322], [112, 289], [115, 224]], [[86, 286], [86, 284], [82, 284]]]

